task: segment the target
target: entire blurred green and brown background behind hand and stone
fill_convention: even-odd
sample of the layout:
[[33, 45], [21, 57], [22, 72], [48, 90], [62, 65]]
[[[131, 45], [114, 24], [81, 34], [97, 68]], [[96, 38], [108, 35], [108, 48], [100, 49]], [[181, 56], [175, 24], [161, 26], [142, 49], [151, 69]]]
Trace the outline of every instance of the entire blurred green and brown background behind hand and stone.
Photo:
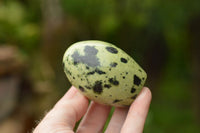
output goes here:
[[64, 51], [94, 39], [146, 70], [145, 133], [200, 132], [200, 0], [1, 0], [0, 132], [31, 132], [70, 87]]

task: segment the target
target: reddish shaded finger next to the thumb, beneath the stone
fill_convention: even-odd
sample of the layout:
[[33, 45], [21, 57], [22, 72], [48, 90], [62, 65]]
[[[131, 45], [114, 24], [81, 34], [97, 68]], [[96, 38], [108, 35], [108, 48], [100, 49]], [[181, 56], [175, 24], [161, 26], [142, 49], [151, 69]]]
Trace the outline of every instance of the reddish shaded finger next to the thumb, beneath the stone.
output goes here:
[[102, 132], [109, 112], [109, 106], [91, 102], [86, 115], [84, 116], [78, 127], [77, 133]]

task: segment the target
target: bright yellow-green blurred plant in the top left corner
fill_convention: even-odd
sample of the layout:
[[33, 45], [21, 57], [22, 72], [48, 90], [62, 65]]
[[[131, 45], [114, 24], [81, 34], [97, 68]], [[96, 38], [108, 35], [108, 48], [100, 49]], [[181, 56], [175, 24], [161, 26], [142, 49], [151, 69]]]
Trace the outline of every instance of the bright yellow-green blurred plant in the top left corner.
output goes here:
[[29, 21], [27, 8], [16, 1], [0, 4], [0, 44], [14, 44], [30, 52], [39, 44], [39, 25]]

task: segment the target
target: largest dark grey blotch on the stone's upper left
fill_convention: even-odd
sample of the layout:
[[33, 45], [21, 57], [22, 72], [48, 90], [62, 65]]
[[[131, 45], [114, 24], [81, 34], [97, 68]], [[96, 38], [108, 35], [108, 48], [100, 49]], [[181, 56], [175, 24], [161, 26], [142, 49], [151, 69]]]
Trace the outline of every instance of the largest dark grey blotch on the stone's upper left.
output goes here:
[[98, 50], [92, 46], [85, 46], [84, 49], [85, 55], [80, 55], [78, 51], [75, 51], [72, 54], [72, 58], [74, 59], [74, 65], [78, 63], [86, 64], [90, 67], [100, 66], [99, 59], [96, 57]]

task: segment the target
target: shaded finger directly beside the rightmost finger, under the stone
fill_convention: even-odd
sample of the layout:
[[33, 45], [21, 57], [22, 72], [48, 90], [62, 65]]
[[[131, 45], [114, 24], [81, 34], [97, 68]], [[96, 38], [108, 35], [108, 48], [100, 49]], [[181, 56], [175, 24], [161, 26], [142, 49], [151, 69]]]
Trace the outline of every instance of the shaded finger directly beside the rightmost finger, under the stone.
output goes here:
[[105, 133], [119, 133], [126, 119], [128, 108], [115, 108]]

